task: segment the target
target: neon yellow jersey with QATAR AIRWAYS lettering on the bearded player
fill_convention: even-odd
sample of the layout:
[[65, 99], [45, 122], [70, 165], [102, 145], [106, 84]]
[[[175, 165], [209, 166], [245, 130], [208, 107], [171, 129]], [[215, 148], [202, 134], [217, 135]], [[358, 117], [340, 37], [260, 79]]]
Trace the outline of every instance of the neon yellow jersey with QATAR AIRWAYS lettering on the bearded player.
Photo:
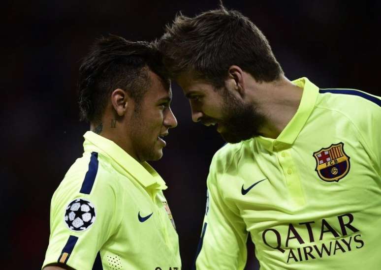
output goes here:
[[381, 100], [307, 78], [277, 139], [219, 150], [207, 180], [198, 270], [381, 268]]

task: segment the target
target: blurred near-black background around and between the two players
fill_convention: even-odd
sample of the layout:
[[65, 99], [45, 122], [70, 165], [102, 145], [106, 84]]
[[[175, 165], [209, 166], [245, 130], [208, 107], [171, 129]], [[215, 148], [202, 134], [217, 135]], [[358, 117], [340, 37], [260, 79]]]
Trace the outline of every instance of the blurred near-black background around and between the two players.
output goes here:
[[[263, 31], [289, 79], [306, 76], [320, 88], [381, 94], [381, 1], [223, 2]], [[89, 129], [78, 121], [76, 83], [94, 39], [113, 33], [152, 40], [176, 12], [193, 16], [217, 5], [218, 0], [1, 3], [1, 269], [38, 269], [44, 260], [51, 196], [82, 155], [82, 135]], [[201, 233], [209, 163], [223, 142], [213, 127], [192, 123], [177, 85], [173, 92], [179, 124], [167, 137], [164, 157], [152, 165], [169, 186], [165, 195], [188, 270]], [[247, 269], [257, 269], [249, 248]]]

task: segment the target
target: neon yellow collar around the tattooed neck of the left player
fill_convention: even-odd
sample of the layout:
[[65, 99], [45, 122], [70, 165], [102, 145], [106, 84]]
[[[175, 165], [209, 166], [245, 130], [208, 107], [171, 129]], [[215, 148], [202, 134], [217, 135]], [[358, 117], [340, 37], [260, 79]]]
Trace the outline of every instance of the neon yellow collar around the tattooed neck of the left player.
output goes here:
[[164, 180], [150, 164], [147, 162], [137, 162], [113, 141], [97, 135], [92, 131], [87, 131], [83, 137], [85, 138], [85, 142], [83, 143], [85, 151], [99, 152], [111, 158], [115, 163], [121, 166], [122, 170], [118, 170], [120, 173], [127, 177], [132, 176], [145, 187], [157, 189], [167, 188]]

